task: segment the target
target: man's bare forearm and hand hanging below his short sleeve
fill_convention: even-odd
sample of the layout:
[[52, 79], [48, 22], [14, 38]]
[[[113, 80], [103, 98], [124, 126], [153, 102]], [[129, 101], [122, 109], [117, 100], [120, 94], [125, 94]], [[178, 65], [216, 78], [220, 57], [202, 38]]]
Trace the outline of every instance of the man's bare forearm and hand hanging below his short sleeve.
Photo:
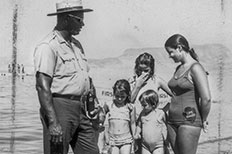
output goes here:
[[41, 108], [48, 118], [48, 128], [53, 142], [62, 141], [62, 129], [57, 120], [51, 93], [52, 78], [44, 73], [36, 73], [36, 90], [38, 92]]

